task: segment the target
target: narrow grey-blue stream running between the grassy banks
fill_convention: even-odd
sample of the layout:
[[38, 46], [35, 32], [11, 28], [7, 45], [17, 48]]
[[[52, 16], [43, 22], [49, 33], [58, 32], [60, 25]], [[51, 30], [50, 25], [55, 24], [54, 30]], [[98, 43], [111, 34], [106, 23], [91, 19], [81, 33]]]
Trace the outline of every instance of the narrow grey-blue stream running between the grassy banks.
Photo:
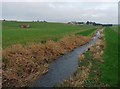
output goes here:
[[59, 57], [50, 64], [48, 73], [40, 77], [31, 87], [53, 87], [69, 78], [78, 67], [78, 55], [84, 53], [97, 39], [98, 35], [96, 34], [89, 43]]

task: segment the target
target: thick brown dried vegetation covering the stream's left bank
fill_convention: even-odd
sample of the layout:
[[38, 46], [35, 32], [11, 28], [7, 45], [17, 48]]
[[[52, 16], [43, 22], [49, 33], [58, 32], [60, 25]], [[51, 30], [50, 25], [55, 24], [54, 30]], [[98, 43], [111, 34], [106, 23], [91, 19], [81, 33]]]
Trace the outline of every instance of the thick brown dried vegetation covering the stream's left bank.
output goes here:
[[38, 76], [47, 72], [50, 62], [90, 40], [90, 37], [68, 36], [59, 42], [6, 48], [3, 50], [3, 87], [29, 86]]

